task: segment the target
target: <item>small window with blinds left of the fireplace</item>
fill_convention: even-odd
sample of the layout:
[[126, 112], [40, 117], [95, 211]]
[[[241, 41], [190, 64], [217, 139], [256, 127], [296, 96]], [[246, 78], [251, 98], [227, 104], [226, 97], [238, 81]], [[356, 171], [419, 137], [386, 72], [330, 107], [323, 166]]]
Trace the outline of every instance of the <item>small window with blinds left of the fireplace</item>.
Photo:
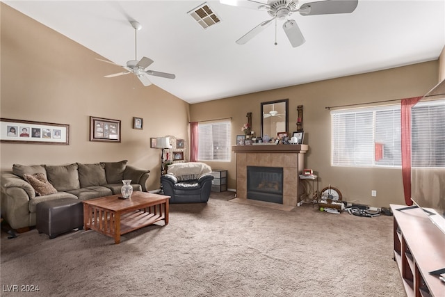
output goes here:
[[200, 123], [198, 129], [199, 161], [230, 161], [230, 122]]

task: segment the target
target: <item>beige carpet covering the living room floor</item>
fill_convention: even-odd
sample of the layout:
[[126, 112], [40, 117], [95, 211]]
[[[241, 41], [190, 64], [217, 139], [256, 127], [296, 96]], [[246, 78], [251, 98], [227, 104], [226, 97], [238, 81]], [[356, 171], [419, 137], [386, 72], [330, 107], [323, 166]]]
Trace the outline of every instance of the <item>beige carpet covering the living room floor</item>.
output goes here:
[[[124, 234], [48, 239], [1, 234], [1, 296], [405, 296], [392, 217], [280, 211], [229, 202], [172, 204], [170, 223]], [[20, 287], [19, 287], [20, 288]]]

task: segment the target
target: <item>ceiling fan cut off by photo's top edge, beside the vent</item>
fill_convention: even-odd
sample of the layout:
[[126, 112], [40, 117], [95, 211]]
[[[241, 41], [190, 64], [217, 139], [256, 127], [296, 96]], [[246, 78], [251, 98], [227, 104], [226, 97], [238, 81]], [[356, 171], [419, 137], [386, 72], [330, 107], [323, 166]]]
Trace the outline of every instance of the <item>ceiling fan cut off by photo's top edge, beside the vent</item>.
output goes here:
[[[272, 17], [261, 22], [254, 29], [236, 40], [238, 45], [244, 45], [246, 42], [254, 38], [258, 33], [267, 28], [267, 26], [275, 19], [285, 20], [283, 24], [284, 33], [291, 42], [292, 47], [299, 47], [305, 43], [305, 37], [302, 35], [297, 22], [289, 19], [292, 13], [299, 12], [300, 15], [330, 15], [336, 13], [352, 13], [357, 8], [358, 0], [324, 0], [307, 2], [299, 6], [298, 0], [268, 0], [267, 3], [261, 3], [254, 0], [220, 0], [220, 3], [252, 8], [256, 10], [265, 10]], [[275, 33], [276, 36], [276, 33]], [[275, 40], [275, 45], [277, 42]]]

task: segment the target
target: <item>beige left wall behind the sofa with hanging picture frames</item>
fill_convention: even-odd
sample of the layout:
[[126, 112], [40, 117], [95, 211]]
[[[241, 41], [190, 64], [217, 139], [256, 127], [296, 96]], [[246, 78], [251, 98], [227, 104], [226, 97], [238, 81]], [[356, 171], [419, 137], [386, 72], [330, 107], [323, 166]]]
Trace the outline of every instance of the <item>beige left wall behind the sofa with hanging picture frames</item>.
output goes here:
[[[160, 150], [149, 138], [187, 138], [188, 105], [156, 86], [144, 87], [102, 58], [1, 3], [1, 118], [70, 125], [70, 145], [1, 143], [1, 169], [13, 163], [65, 164], [129, 160], [151, 170], [149, 189], [159, 188]], [[168, 106], [175, 106], [170, 109]], [[121, 143], [89, 141], [89, 117], [122, 121]], [[133, 116], [144, 129], [132, 129]]]

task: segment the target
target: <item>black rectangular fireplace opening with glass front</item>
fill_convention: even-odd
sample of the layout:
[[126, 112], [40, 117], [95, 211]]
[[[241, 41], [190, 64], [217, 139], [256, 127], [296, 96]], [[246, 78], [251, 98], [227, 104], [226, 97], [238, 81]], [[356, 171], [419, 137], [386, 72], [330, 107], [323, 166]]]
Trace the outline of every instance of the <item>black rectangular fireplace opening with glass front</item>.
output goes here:
[[248, 166], [248, 199], [283, 204], [283, 168]]

